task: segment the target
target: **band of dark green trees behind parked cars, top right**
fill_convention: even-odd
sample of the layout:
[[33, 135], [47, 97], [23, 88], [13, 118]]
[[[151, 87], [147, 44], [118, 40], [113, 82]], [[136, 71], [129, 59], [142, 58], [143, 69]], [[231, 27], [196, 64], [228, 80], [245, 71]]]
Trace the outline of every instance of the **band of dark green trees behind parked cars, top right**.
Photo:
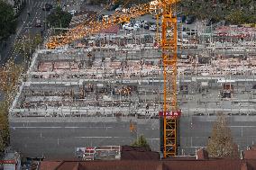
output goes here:
[[182, 0], [178, 11], [186, 15], [195, 15], [197, 19], [227, 20], [234, 24], [255, 23], [255, 1], [252, 0]]

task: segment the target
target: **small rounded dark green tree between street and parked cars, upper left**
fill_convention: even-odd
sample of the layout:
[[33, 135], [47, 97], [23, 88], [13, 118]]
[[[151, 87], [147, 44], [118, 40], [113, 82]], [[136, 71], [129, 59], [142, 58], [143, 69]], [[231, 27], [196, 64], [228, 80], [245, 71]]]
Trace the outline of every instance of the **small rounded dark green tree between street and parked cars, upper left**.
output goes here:
[[68, 28], [71, 19], [72, 14], [62, 11], [59, 6], [47, 16], [47, 22], [55, 28]]

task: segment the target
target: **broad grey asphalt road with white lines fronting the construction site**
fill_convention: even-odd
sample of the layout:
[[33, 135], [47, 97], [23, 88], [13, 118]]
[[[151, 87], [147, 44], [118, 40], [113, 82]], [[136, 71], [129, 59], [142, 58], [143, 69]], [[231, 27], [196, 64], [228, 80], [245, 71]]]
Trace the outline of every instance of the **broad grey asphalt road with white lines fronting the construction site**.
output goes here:
[[[159, 120], [133, 120], [137, 133], [129, 130], [134, 118], [27, 118], [10, 121], [11, 145], [24, 157], [71, 158], [75, 148], [130, 145], [144, 135], [155, 151], [159, 151]], [[17, 119], [18, 120], [18, 119]], [[22, 121], [23, 120], [23, 121]], [[205, 147], [211, 135], [215, 116], [181, 117], [179, 155], [195, 155]], [[256, 141], [256, 117], [230, 116], [227, 122], [239, 149]]]

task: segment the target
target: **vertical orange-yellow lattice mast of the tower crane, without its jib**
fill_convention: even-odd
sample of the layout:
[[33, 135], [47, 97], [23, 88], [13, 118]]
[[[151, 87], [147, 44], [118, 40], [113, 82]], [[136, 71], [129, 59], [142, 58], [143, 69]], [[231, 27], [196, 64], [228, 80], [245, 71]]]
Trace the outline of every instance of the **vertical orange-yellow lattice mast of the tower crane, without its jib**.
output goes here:
[[177, 155], [178, 121], [174, 116], [177, 104], [177, 16], [178, 0], [161, 0], [162, 32], [161, 50], [163, 63], [163, 157]]

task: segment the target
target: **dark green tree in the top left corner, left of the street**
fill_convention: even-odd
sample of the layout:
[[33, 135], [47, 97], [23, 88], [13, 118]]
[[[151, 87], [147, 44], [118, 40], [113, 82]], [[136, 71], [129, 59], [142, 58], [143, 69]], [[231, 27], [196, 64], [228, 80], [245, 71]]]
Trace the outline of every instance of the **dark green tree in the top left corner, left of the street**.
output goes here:
[[0, 0], [0, 40], [13, 34], [16, 26], [13, 6]]

